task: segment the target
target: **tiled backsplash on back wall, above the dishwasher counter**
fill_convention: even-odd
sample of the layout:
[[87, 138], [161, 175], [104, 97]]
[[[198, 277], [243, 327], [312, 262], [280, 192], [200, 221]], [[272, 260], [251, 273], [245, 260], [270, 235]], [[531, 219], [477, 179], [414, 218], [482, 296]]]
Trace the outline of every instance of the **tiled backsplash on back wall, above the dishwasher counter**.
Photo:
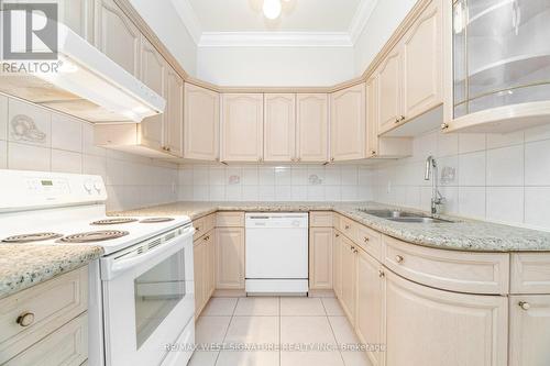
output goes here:
[[366, 201], [372, 170], [360, 166], [184, 166], [179, 200]]

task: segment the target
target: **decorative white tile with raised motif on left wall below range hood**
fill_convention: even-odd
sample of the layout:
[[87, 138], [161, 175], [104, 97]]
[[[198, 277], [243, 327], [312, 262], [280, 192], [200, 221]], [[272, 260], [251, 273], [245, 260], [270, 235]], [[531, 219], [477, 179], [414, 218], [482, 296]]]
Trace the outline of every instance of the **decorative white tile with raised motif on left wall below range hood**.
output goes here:
[[41, 147], [52, 146], [51, 112], [34, 104], [10, 99], [8, 115], [10, 141]]

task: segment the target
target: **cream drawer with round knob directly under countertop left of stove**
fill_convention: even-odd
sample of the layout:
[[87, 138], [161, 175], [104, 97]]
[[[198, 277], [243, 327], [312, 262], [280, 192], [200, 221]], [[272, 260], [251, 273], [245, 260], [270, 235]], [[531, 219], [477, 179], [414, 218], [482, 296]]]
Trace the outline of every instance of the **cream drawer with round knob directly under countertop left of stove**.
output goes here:
[[[0, 364], [88, 308], [88, 267], [0, 300]], [[26, 314], [29, 325], [18, 323]], [[31, 319], [34, 318], [33, 321]]]

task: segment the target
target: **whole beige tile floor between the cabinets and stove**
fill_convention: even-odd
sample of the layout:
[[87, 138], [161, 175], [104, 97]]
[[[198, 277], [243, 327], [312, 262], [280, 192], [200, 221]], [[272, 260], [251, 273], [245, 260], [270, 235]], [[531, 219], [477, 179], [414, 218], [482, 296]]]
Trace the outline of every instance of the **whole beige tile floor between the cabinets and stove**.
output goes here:
[[[204, 345], [261, 346], [263, 350], [195, 352], [191, 366], [370, 366], [364, 353], [339, 351], [359, 343], [334, 298], [212, 298], [197, 320]], [[276, 350], [272, 345], [328, 345], [330, 350]]]

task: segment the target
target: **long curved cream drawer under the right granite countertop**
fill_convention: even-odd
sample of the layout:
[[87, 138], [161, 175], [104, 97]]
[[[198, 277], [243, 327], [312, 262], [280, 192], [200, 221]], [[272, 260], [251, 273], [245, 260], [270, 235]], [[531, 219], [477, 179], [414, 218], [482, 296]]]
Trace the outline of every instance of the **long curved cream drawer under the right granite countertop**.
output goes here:
[[383, 247], [384, 265], [415, 282], [458, 292], [508, 292], [508, 254], [436, 249], [386, 235]]

